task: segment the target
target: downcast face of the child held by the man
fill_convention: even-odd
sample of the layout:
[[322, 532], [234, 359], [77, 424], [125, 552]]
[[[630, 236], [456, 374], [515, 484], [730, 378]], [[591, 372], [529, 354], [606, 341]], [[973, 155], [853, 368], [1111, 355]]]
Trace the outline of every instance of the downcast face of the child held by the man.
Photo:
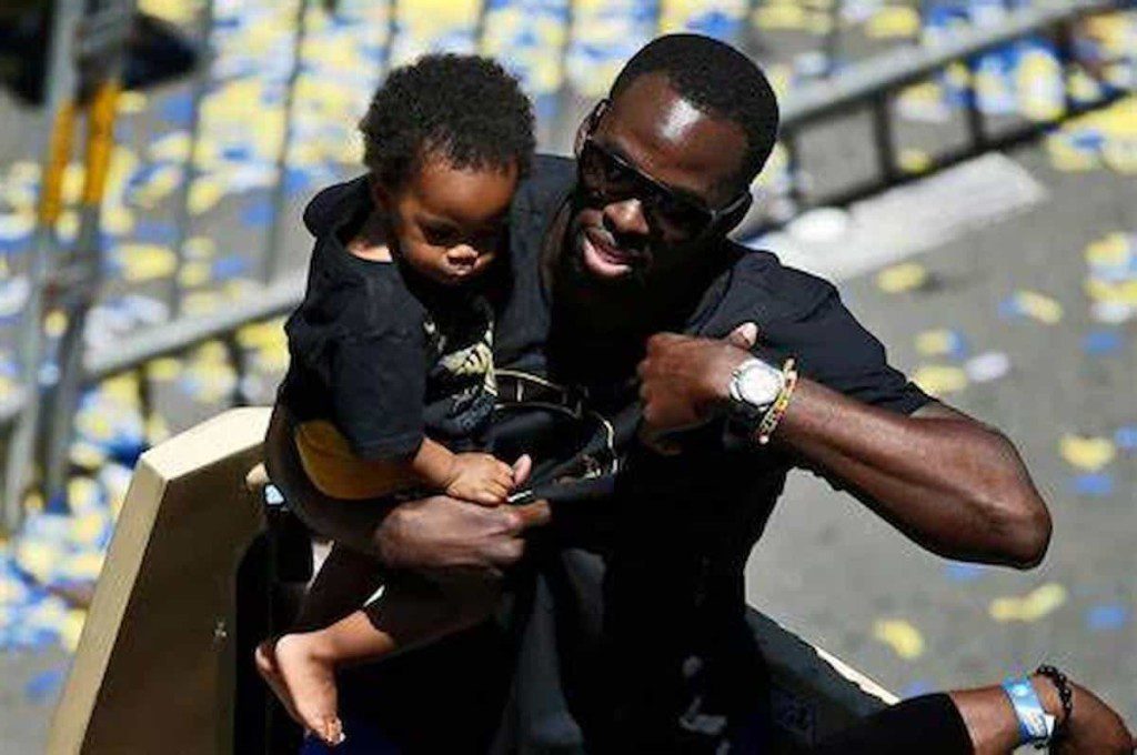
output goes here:
[[505, 240], [517, 168], [455, 168], [428, 158], [397, 192], [376, 189], [402, 258], [435, 283], [484, 272]]

